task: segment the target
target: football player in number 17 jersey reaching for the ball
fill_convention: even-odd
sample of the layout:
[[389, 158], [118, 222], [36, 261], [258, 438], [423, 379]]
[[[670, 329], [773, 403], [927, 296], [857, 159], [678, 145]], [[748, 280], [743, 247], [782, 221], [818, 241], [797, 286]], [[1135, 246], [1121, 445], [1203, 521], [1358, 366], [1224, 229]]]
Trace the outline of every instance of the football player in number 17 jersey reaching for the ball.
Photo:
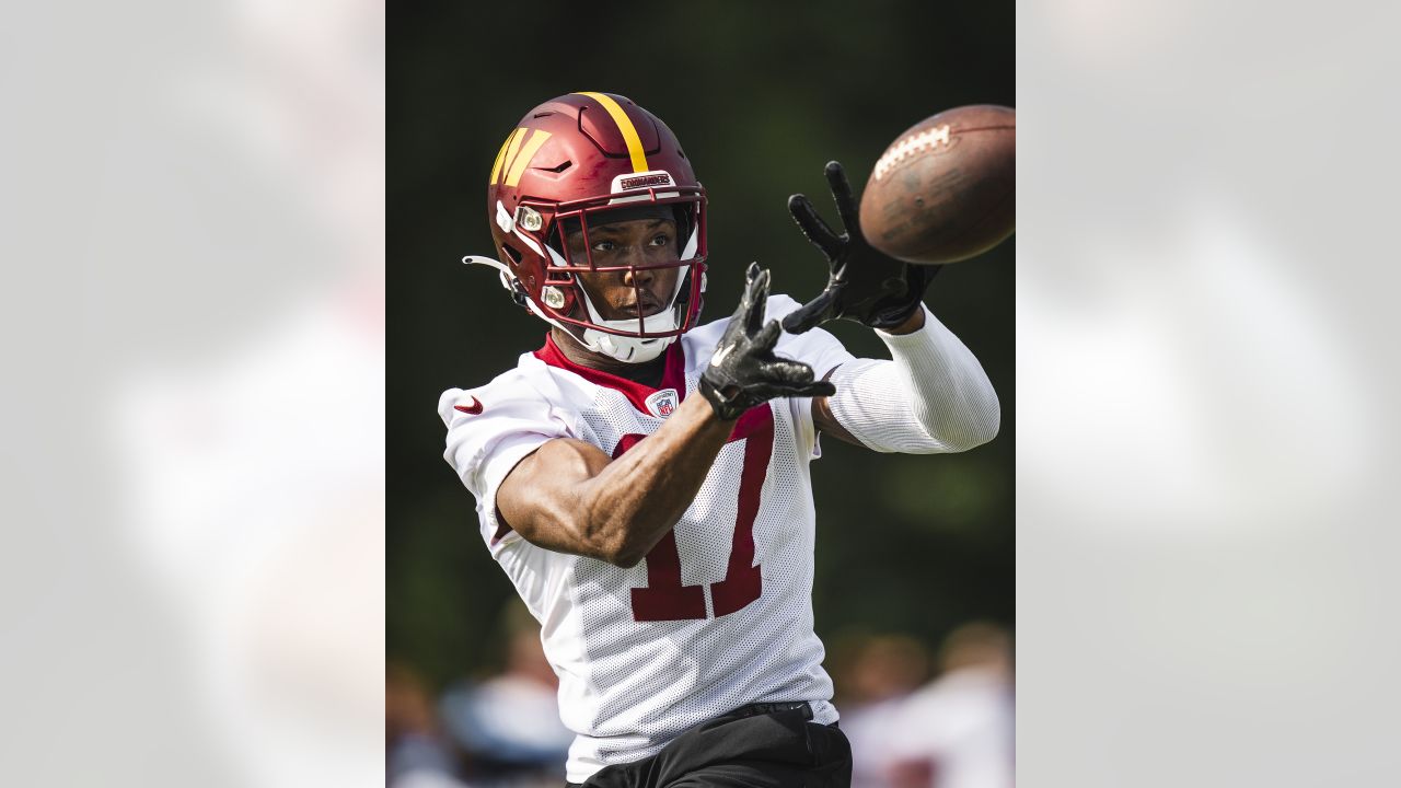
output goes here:
[[[706, 195], [681, 143], [621, 95], [531, 109], [492, 167], [492, 265], [545, 345], [439, 411], [482, 537], [542, 627], [576, 739], [570, 784], [848, 785], [813, 632], [818, 436], [962, 451], [998, 432], [972, 353], [925, 308], [930, 268], [789, 208], [828, 261], [806, 306], [751, 264], [699, 324]], [[720, 268], [722, 275], [736, 275]], [[733, 272], [733, 273], [731, 273]], [[892, 360], [815, 328], [873, 327]]]

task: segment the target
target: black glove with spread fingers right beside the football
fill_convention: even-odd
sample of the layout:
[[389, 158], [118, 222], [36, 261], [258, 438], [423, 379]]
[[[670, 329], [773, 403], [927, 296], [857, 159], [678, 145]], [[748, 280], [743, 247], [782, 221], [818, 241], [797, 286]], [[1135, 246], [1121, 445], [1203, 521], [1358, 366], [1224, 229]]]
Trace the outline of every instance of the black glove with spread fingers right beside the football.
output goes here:
[[783, 330], [801, 334], [828, 320], [855, 320], [871, 328], [894, 328], [915, 314], [925, 287], [940, 265], [911, 265], [873, 250], [862, 237], [852, 186], [836, 161], [827, 163], [836, 213], [845, 233], [838, 236], [822, 222], [803, 195], [789, 198], [789, 212], [799, 229], [827, 257], [831, 278], [827, 289], [783, 318]]

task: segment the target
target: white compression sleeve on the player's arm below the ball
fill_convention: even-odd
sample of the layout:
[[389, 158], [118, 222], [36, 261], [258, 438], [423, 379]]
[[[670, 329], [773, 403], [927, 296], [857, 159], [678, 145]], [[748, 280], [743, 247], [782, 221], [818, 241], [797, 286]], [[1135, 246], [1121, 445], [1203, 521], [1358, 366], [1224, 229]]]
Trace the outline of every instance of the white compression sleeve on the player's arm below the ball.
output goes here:
[[998, 435], [998, 393], [972, 352], [925, 307], [913, 334], [876, 334], [894, 360], [836, 369], [827, 398], [836, 422], [876, 451], [967, 451]]

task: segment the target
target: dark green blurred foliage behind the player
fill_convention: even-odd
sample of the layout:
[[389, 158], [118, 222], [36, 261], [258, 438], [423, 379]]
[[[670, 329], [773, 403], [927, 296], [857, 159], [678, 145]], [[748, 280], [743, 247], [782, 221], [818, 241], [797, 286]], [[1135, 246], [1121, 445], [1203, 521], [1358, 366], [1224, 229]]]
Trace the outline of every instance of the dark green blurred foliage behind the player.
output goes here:
[[[836, 222], [822, 165], [860, 188], [885, 146], [962, 104], [1016, 105], [1014, 11], [995, 3], [391, 4], [388, 62], [389, 656], [434, 683], [493, 667], [514, 590], [441, 460], [437, 395], [486, 383], [545, 325], [495, 272], [486, 177], [534, 105], [597, 90], [675, 130], [710, 199], [706, 318], [729, 314], [744, 265], [799, 300], [825, 282], [787, 216], [804, 192]], [[905, 631], [930, 645], [969, 618], [1013, 621], [1014, 238], [941, 272], [926, 301], [982, 360], [1002, 435], [965, 454], [874, 454], [835, 440], [813, 467], [818, 632]], [[852, 324], [846, 346], [885, 356]]]

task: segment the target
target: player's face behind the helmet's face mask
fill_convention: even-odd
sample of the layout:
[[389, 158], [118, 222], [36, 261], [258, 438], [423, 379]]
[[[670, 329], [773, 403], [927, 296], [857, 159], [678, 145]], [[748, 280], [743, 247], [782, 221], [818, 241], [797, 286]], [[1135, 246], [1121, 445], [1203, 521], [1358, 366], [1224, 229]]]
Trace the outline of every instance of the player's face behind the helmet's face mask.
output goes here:
[[[671, 219], [632, 219], [590, 226], [588, 244], [595, 266], [675, 262], [677, 223]], [[576, 265], [587, 259], [581, 233], [569, 234], [569, 257]], [[588, 293], [588, 300], [604, 320], [626, 320], [656, 314], [668, 307], [681, 269], [657, 268], [636, 273], [615, 271], [577, 276]]]

